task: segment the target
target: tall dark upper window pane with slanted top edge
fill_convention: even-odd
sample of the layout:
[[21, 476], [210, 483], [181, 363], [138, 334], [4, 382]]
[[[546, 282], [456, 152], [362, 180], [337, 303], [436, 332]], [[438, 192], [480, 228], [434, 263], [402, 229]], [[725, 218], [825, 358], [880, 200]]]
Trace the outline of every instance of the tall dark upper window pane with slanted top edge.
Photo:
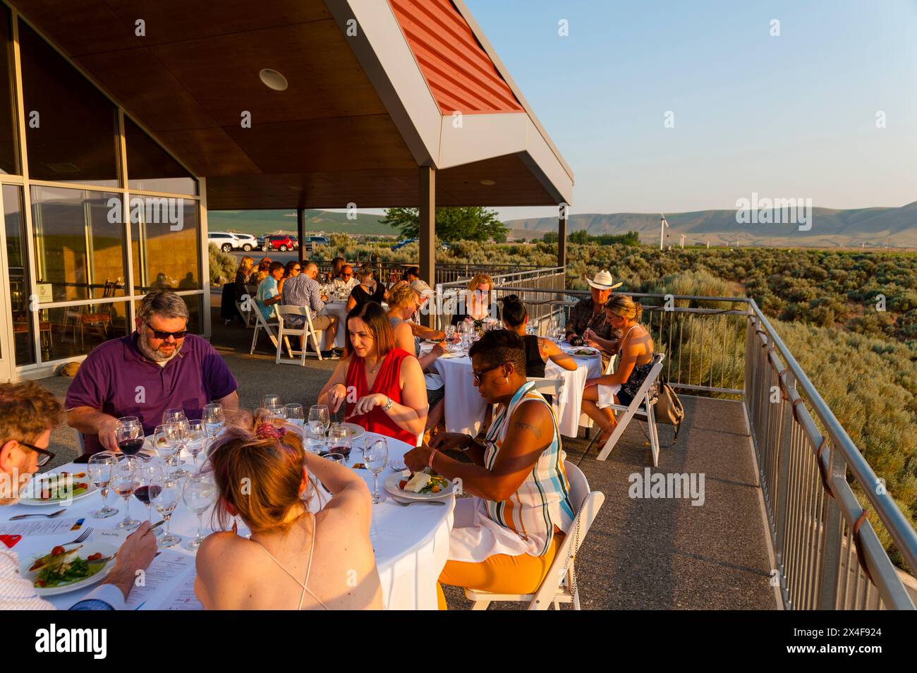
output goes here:
[[115, 105], [21, 21], [19, 50], [29, 177], [119, 186]]

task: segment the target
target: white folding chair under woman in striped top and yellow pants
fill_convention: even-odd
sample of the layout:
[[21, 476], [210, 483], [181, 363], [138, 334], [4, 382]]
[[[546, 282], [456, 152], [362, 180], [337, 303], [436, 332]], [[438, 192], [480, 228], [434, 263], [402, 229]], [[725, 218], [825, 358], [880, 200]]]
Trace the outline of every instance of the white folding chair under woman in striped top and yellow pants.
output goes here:
[[577, 590], [574, 562], [592, 522], [602, 509], [605, 495], [601, 491], [590, 491], [586, 476], [573, 463], [565, 460], [564, 470], [567, 472], [570, 485], [570, 502], [578, 509], [564, 541], [558, 546], [551, 567], [547, 568], [545, 579], [542, 579], [535, 593], [490, 593], [466, 589], [465, 597], [474, 601], [471, 610], [487, 610], [493, 601], [527, 601], [529, 610], [547, 610], [551, 605], [554, 605], [555, 610], [559, 610], [560, 603], [573, 603], [573, 609], [580, 610], [580, 592]]

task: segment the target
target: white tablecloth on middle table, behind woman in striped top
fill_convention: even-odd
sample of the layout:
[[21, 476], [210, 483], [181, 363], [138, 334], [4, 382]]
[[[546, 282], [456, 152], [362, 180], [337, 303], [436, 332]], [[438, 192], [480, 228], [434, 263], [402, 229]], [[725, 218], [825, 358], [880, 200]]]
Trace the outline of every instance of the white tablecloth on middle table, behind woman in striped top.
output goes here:
[[[563, 378], [564, 392], [559, 402], [560, 434], [577, 436], [580, 427], [580, 405], [586, 380], [602, 375], [601, 358], [574, 358], [577, 370], [569, 371], [548, 360], [545, 376], [549, 379]], [[437, 358], [434, 367], [446, 382], [445, 423], [447, 432], [465, 433], [476, 436], [481, 430], [487, 403], [478, 393], [471, 372], [468, 356], [459, 358]]]

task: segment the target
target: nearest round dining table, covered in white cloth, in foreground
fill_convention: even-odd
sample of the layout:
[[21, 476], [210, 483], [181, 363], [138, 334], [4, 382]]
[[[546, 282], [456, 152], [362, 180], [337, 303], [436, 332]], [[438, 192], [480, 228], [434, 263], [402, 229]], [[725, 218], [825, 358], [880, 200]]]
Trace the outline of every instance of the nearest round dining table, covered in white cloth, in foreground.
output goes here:
[[[378, 438], [378, 435], [366, 433], [354, 440], [348, 457], [348, 466], [362, 461], [362, 447]], [[383, 483], [393, 474], [392, 462], [402, 462], [403, 455], [412, 447], [404, 442], [386, 437], [389, 447], [390, 464], [379, 475], [379, 489], [384, 492]], [[192, 469], [192, 458], [185, 458], [184, 469]], [[84, 472], [85, 465], [69, 463], [54, 471], [71, 473]], [[372, 490], [372, 474], [367, 469], [356, 469], [360, 477], [366, 480]], [[319, 489], [319, 491], [321, 491]], [[385, 493], [386, 500], [372, 507], [370, 540], [376, 556], [376, 568], [379, 571], [382, 588], [382, 603], [388, 610], [436, 610], [436, 580], [446, 565], [449, 533], [452, 530], [455, 496], [448, 495], [445, 504], [413, 504], [407, 507], [396, 502], [391, 494]], [[325, 499], [329, 496], [324, 496]], [[317, 511], [325, 502], [314, 499], [311, 509]], [[44, 531], [25, 533], [13, 548], [20, 561], [27, 561], [50, 552], [51, 548], [63, 545], [81, 535], [87, 528], [93, 532], [84, 541], [109, 543], [120, 546], [127, 533], [116, 529], [125, 513], [125, 501], [116, 497], [114, 491], [108, 495], [108, 504], [119, 512], [106, 519], [95, 519], [91, 512], [102, 506], [100, 491], [74, 500], [69, 504], [55, 503], [48, 505], [15, 504], [0, 508], [0, 534], [10, 530], [11, 526], [35, 524]], [[21, 521], [9, 521], [17, 514], [53, 513], [60, 509], [64, 512], [53, 518], [30, 517]], [[130, 498], [130, 513], [134, 519], [147, 519], [147, 507], [134, 496]], [[204, 513], [204, 535], [212, 532], [209, 527], [211, 511]], [[154, 523], [160, 516], [153, 510]], [[39, 526], [39, 524], [41, 524]], [[47, 529], [57, 527], [50, 535]], [[164, 527], [164, 526], [163, 526]], [[188, 543], [197, 531], [197, 517], [191, 513], [183, 502], [171, 517], [171, 533], [182, 536], [182, 541], [175, 546], [160, 550], [162, 553], [153, 560], [145, 573], [147, 583], [135, 587], [127, 601], [128, 610], [201, 610], [203, 606], [193, 596], [194, 552], [189, 550]], [[248, 535], [244, 524], [239, 522], [238, 534]], [[76, 601], [86, 597], [97, 585], [80, 590], [72, 590], [47, 597], [57, 608], [66, 610]]]

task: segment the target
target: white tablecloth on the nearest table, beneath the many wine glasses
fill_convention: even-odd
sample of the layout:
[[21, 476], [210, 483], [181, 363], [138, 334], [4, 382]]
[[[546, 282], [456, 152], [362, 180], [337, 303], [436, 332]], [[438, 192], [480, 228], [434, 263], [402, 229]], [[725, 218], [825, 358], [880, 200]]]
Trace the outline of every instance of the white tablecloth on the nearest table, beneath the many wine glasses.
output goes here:
[[[351, 465], [362, 460], [362, 452], [360, 451], [363, 446], [362, 442], [371, 436], [371, 434], [367, 434], [355, 441], [355, 447], [350, 452], [349, 462]], [[388, 442], [389, 457], [392, 459], [401, 458], [405, 452], [412, 448], [404, 442], [391, 437], [388, 438]], [[187, 461], [189, 464], [190, 460], [189, 457]], [[69, 472], [81, 472], [85, 471], [85, 468], [85, 465], [71, 463], [60, 469]], [[357, 471], [366, 480], [371, 491], [372, 475], [370, 472], [365, 469]], [[384, 491], [382, 483], [391, 474], [392, 470], [386, 469], [379, 475], [380, 492]], [[107, 519], [94, 519], [89, 513], [99, 509], [102, 505], [100, 493], [96, 492], [83, 498], [83, 500], [72, 502], [67, 507], [67, 512], [56, 517], [56, 519], [84, 518], [83, 527], [80, 531], [68, 531], [63, 535], [24, 536], [17, 546], [13, 547], [13, 550], [17, 552], [20, 560], [30, 558], [33, 555], [46, 554], [51, 547], [75, 539], [87, 527], [94, 528], [94, 533], [89, 539], [90, 542], [99, 540], [100, 536], [102, 536], [102, 539], [107, 539], [113, 545], [118, 546], [120, 545], [119, 538], [107, 537], [102, 534], [115, 532], [116, 524], [124, 518], [124, 501], [118, 498], [114, 492], [111, 492], [108, 495], [108, 504], [116, 507], [120, 512]], [[379, 570], [381, 579], [382, 602], [388, 610], [436, 610], [436, 579], [446, 565], [454, 506], [454, 498], [449, 498], [445, 506], [413, 505], [411, 507], [402, 507], [393, 502], [381, 502], [381, 504], [373, 505], [370, 539], [375, 550], [376, 567]], [[61, 509], [61, 505], [41, 507], [12, 505], [2, 507], [0, 508], [0, 525], [6, 524], [9, 517], [15, 514], [50, 513], [58, 509]], [[134, 519], [142, 521], [147, 517], [147, 507], [131, 496], [130, 513]], [[154, 521], [160, 520], [155, 509], [153, 510], [153, 518]], [[24, 519], [20, 523], [28, 521], [34, 522], [39, 521], [39, 519]], [[209, 521], [210, 513], [204, 513], [204, 525], [208, 524]], [[169, 551], [193, 556], [193, 552], [186, 549], [185, 546], [197, 532], [197, 517], [189, 512], [182, 502], [179, 503], [175, 513], [172, 514], [171, 532], [181, 535], [182, 542], [179, 545], [171, 546]], [[241, 525], [239, 534], [247, 535], [247, 532], [242, 530]], [[126, 535], [121, 534], [120, 537], [123, 538]], [[148, 572], [151, 573], [158, 563], [164, 563], [168, 560], [168, 556], [163, 554], [157, 557]], [[167, 584], [161, 590], [158, 590], [156, 595], [139, 609], [160, 609], [169, 598], [171, 592], [180, 584], [182, 584], [182, 577], [175, 578], [171, 584]], [[59, 596], [52, 596], [48, 600], [59, 609], [65, 610], [74, 602], [83, 599], [92, 589], [93, 587], [71, 591]], [[130, 606], [130, 603], [128, 603], [128, 606]]]

